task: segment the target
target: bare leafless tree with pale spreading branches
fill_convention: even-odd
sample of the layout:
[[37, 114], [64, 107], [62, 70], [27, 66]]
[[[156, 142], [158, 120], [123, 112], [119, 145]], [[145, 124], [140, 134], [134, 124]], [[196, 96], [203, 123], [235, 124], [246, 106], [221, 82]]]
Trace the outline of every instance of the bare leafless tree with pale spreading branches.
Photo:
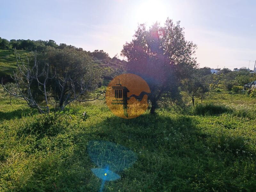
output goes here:
[[[63, 110], [74, 101], [92, 101], [105, 98], [105, 91], [99, 90], [97, 94], [95, 93], [98, 84], [93, 83], [92, 79], [89, 78], [88, 80], [87, 78], [85, 81], [83, 77], [80, 77], [74, 81], [68, 76], [68, 73], [65, 76], [60, 76], [56, 74], [56, 70], [50, 70], [50, 66], [46, 62], [44, 66], [40, 67], [36, 60], [36, 54], [32, 53], [32, 55], [34, 56], [34, 63], [31, 65], [28, 57], [26, 57], [27, 63], [25, 63], [15, 50], [18, 71], [13, 72], [13, 76], [11, 76], [15, 86], [10, 84], [9, 88], [6, 87], [2, 79], [4, 90], [16, 98], [25, 100], [28, 107], [36, 108], [39, 113], [44, 114], [49, 113], [50, 106], [53, 106], [55, 110]], [[49, 88], [52, 81], [58, 82], [58, 86], [55, 86], [54, 90]], [[44, 96], [43, 102], [37, 99], [37, 94], [33, 94], [34, 88], [32, 86], [35, 84], [37, 84], [36, 92], [40, 92]], [[56, 88], [59, 89], [58, 93]], [[87, 92], [92, 91], [92, 99], [81, 99]]]

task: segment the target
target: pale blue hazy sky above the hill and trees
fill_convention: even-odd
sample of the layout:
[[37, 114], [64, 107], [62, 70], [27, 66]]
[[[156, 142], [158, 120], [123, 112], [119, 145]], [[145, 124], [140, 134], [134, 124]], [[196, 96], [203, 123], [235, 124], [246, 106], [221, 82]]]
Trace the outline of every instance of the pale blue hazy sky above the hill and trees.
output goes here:
[[167, 17], [180, 20], [186, 39], [197, 44], [200, 67], [253, 69], [253, 0], [0, 0], [0, 37], [52, 39], [113, 57], [132, 40], [138, 24], [164, 24]]

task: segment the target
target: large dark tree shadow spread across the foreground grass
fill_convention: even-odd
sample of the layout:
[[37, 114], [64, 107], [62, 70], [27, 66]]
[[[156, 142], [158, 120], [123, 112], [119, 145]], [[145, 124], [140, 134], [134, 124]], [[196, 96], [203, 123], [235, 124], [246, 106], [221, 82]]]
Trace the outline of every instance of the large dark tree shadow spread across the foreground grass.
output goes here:
[[[234, 179], [239, 180], [239, 175], [229, 171], [233, 164], [223, 163], [218, 154], [204, 148], [208, 137], [211, 135], [197, 130], [197, 122], [190, 116], [144, 114], [134, 119], [113, 116], [63, 139], [60, 149], [67, 148], [64, 142], [71, 142], [73, 150], [44, 158], [30, 181], [19, 190], [99, 191], [101, 180], [90, 170], [96, 167], [87, 151], [90, 140], [120, 144], [138, 156], [136, 163], [121, 173], [121, 180], [107, 182], [103, 191], [192, 191], [196, 187], [204, 191], [238, 190], [239, 183]], [[235, 160], [228, 155], [223, 158], [226, 162]], [[244, 168], [236, 169], [239, 172]], [[250, 189], [250, 184], [247, 188]]]

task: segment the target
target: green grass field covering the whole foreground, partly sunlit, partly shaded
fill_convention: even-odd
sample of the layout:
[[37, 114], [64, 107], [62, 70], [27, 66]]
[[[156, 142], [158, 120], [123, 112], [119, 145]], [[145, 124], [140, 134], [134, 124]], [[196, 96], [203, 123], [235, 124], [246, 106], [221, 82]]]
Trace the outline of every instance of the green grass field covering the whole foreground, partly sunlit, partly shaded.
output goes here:
[[114, 116], [104, 101], [39, 115], [20, 100], [10, 106], [2, 89], [0, 106], [0, 191], [99, 191], [90, 140], [138, 156], [103, 191], [255, 190], [256, 99], [246, 95], [213, 92], [186, 113], [160, 109], [134, 119]]

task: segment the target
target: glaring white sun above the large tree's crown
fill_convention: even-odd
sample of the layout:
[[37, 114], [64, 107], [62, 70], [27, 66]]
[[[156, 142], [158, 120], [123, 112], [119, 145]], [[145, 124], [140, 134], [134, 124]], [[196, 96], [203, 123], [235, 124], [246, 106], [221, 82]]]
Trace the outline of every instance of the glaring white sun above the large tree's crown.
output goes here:
[[164, 4], [161, 1], [146, 1], [141, 3], [138, 6], [138, 9], [136, 9], [135, 12], [135, 19], [139, 23], [147, 23], [148, 25], [151, 25], [158, 22], [164, 22], [167, 17], [167, 10], [164, 6]]

